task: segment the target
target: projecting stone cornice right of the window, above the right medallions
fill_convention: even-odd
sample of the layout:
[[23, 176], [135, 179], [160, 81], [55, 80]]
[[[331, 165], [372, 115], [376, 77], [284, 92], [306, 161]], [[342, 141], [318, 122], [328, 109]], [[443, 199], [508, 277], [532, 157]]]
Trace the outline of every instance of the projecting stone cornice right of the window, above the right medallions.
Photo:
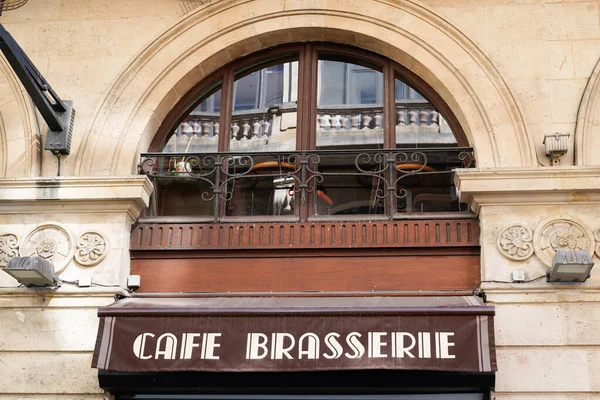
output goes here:
[[599, 204], [600, 167], [458, 169], [460, 199], [486, 205]]

